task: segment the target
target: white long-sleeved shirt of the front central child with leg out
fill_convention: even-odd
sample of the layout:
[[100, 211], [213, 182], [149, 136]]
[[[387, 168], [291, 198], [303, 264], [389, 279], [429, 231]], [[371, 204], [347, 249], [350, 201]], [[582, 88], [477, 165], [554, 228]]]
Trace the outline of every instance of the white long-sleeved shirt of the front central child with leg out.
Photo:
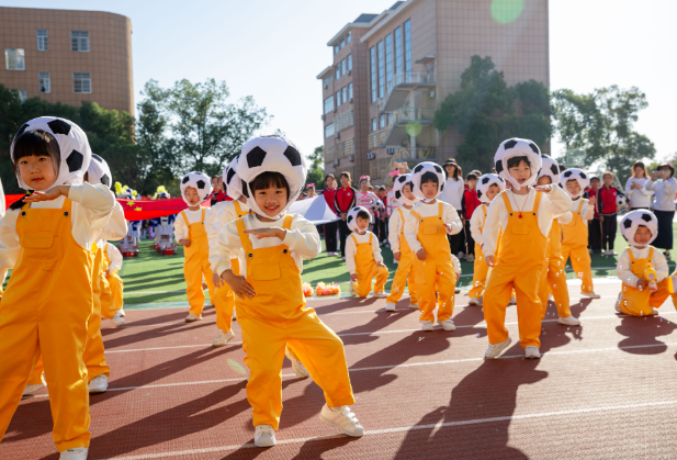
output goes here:
[[[258, 239], [256, 235], [248, 235], [249, 242], [253, 249], [268, 248], [273, 246], [286, 245], [290, 248], [290, 253], [296, 267], [300, 271], [303, 271], [303, 259], [311, 260], [316, 257], [320, 249], [321, 243], [319, 240], [319, 234], [317, 227], [301, 214], [292, 214], [291, 231], [286, 232], [283, 240], [280, 238], [261, 238]], [[261, 222], [256, 215], [248, 214], [242, 217], [245, 222], [245, 228], [272, 228], [282, 227], [284, 224], [284, 216], [274, 222]], [[215, 269], [215, 272], [221, 276], [224, 271], [230, 269], [230, 259], [237, 259], [237, 256], [242, 249], [242, 242], [240, 240], [237, 232], [237, 225], [235, 222], [226, 224], [216, 238], [214, 247], [210, 247], [210, 262]], [[240, 273], [247, 272], [247, 257], [240, 259]]]

